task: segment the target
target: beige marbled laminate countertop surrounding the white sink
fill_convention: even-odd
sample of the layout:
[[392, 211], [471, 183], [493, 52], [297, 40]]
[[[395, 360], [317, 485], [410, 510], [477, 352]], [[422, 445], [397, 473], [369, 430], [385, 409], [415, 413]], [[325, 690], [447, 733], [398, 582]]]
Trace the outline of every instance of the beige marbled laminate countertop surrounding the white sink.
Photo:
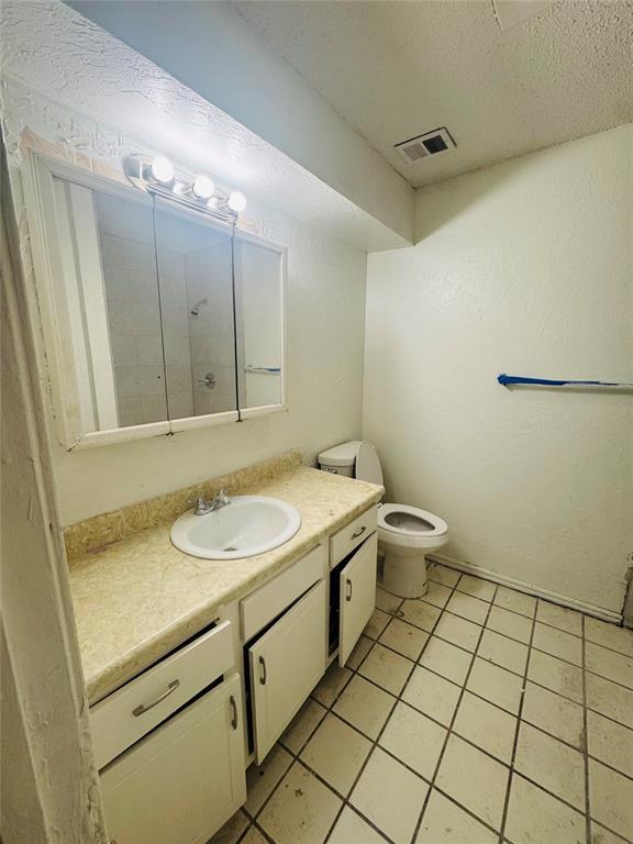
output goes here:
[[297, 466], [240, 495], [275, 496], [301, 513], [285, 545], [256, 557], [190, 557], [171, 520], [70, 564], [70, 589], [90, 703], [152, 665], [302, 554], [380, 500], [382, 487]]

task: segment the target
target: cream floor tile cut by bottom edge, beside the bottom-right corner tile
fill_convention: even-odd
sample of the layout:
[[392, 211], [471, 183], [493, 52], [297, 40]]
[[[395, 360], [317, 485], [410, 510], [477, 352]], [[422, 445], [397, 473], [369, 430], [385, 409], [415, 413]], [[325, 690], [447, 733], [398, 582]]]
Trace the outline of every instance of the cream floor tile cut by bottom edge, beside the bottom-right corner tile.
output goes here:
[[513, 844], [585, 844], [585, 817], [514, 774], [506, 835]]

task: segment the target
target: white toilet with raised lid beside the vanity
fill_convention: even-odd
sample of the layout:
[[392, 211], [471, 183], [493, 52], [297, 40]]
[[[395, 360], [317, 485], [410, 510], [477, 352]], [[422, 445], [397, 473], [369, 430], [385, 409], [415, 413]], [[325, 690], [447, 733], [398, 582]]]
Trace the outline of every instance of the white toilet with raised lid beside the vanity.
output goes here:
[[[374, 443], [353, 440], [321, 452], [319, 467], [334, 475], [382, 485]], [[378, 552], [385, 555], [381, 585], [401, 598], [425, 595], [426, 554], [448, 542], [448, 525], [438, 515], [409, 504], [378, 504]]]

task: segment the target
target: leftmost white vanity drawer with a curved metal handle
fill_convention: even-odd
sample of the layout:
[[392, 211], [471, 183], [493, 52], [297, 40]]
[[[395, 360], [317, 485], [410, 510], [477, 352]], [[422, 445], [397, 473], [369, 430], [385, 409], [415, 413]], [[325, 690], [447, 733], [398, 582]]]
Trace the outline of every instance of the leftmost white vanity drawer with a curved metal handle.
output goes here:
[[97, 768], [137, 742], [233, 663], [231, 622], [223, 621], [90, 707]]

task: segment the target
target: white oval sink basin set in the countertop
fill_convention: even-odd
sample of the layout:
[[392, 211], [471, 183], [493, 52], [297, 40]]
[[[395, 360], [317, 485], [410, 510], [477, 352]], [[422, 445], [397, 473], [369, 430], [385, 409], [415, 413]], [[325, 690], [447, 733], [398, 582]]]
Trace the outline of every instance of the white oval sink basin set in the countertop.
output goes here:
[[254, 557], [291, 540], [301, 515], [290, 504], [267, 496], [233, 496], [231, 503], [204, 515], [189, 511], [171, 525], [171, 542], [193, 557]]

